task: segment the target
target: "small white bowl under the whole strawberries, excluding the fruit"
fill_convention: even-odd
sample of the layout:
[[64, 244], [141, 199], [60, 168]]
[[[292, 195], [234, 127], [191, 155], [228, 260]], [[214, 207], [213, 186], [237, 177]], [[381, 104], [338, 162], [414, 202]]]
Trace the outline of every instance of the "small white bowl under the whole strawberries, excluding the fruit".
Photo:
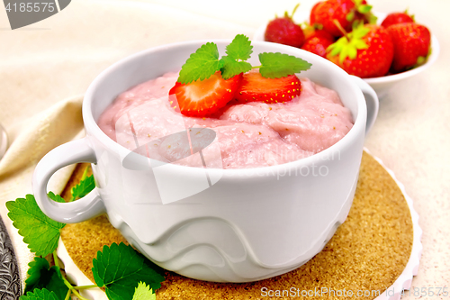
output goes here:
[[[387, 14], [374, 12], [374, 14], [378, 17], [377, 23], [381, 24], [386, 17]], [[310, 20], [310, 12], [299, 11], [294, 15], [295, 23], [303, 23], [305, 21]], [[267, 22], [268, 23], [268, 22]], [[253, 41], [264, 41], [264, 35], [266, 32], [267, 23], [261, 25], [255, 34], [253, 35]], [[424, 71], [426, 68], [431, 66], [439, 56], [439, 42], [437, 41], [437, 37], [431, 34], [431, 54], [429, 55], [427, 62], [418, 68], [412, 68], [406, 72], [401, 72], [398, 74], [383, 76], [383, 77], [374, 77], [374, 78], [365, 78], [365, 82], [372, 86], [378, 95], [378, 97], [383, 98], [389, 90], [395, 86], [396, 83], [406, 80], [407, 78], [413, 77], [420, 72]]]

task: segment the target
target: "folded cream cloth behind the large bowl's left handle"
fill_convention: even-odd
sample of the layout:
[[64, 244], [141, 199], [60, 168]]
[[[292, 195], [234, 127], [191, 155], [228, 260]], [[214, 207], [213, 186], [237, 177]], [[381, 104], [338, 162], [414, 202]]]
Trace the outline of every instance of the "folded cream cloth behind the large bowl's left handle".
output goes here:
[[[85, 134], [81, 116], [82, 101], [81, 95], [63, 100], [21, 124], [16, 132], [10, 134], [12, 141], [9, 149], [0, 160], [0, 214], [13, 242], [23, 282], [27, 277], [28, 263], [34, 259], [34, 254], [14, 228], [4, 204], [16, 197], [32, 194], [32, 173], [37, 162], [49, 150]], [[60, 193], [73, 168], [74, 166], [61, 168], [55, 173], [50, 179], [49, 190]]]

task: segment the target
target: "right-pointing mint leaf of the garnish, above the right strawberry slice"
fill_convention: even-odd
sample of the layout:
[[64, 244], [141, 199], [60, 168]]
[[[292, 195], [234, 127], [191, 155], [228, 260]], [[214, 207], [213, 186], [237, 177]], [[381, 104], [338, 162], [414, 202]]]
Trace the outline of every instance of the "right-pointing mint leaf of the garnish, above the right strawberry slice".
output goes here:
[[280, 52], [259, 53], [259, 61], [261, 62], [259, 72], [267, 78], [286, 77], [311, 68], [308, 61]]

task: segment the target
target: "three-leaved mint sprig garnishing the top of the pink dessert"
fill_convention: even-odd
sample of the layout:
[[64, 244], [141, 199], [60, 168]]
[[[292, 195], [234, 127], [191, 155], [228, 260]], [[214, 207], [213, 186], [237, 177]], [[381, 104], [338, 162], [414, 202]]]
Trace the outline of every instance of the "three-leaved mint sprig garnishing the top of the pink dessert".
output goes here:
[[253, 46], [248, 37], [238, 34], [226, 47], [226, 56], [219, 59], [217, 45], [208, 42], [196, 50], [186, 60], [180, 71], [178, 82], [188, 84], [195, 80], [211, 77], [216, 71], [221, 72], [224, 79], [229, 79], [252, 68], [259, 68], [263, 77], [279, 78], [293, 75], [311, 68], [311, 64], [303, 59], [280, 52], [261, 53], [261, 66], [252, 67], [247, 59], [253, 53]]

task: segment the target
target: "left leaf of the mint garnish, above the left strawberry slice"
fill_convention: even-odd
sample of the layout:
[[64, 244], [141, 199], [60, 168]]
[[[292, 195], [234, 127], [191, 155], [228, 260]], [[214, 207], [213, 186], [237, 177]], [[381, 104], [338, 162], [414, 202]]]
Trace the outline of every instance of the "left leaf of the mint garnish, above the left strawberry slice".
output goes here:
[[220, 68], [217, 45], [213, 42], [207, 42], [186, 60], [177, 81], [188, 84], [198, 79], [207, 79]]

